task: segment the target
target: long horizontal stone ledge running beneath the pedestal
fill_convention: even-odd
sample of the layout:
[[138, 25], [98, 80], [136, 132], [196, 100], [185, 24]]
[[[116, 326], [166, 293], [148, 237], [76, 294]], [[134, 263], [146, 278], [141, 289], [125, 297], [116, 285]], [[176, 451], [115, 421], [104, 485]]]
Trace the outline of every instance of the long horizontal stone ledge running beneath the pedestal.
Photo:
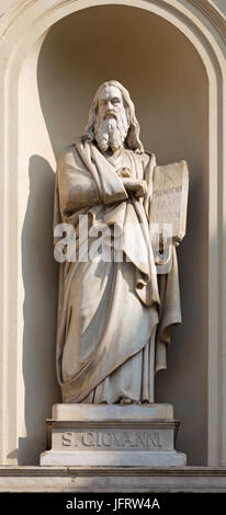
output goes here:
[[0, 467], [0, 492], [226, 492], [226, 467]]

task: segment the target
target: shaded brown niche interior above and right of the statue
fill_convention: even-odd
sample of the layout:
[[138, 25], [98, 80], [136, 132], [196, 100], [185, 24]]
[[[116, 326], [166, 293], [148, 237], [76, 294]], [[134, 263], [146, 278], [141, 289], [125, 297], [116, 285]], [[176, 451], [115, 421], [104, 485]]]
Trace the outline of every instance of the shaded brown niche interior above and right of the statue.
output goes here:
[[[189, 462], [205, 465], [207, 75], [189, 39], [156, 14], [104, 5], [66, 16], [48, 32], [37, 66], [41, 107], [56, 156], [82, 134], [92, 96], [109, 78], [128, 88], [145, 148], [157, 161], [184, 158], [190, 163], [188, 236], [179, 250], [183, 324], [173, 331], [169, 367], [157, 376], [156, 399], [173, 404], [182, 422], [178, 445]], [[29, 124], [26, 130], [31, 134]]]

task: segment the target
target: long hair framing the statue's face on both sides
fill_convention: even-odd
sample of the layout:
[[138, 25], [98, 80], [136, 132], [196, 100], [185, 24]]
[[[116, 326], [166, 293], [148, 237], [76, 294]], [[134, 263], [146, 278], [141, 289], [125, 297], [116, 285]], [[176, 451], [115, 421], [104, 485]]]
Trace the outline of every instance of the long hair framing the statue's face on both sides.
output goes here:
[[98, 89], [98, 91], [94, 95], [94, 99], [92, 101], [92, 105], [91, 105], [91, 108], [90, 108], [90, 112], [89, 112], [88, 124], [84, 128], [84, 131], [83, 131], [83, 135], [82, 135], [82, 140], [88, 141], [88, 142], [92, 142], [95, 139], [95, 137], [94, 137], [94, 122], [95, 122], [95, 117], [97, 117], [97, 113], [98, 113], [98, 108], [99, 108], [99, 95], [100, 95], [100, 92], [106, 85], [114, 85], [122, 93], [123, 102], [124, 102], [124, 106], [125, 106], [125, 111], [126, 111], [126, 116], [127, 116], [127, 121], [128, 121], [128, 133], [127, 133], [127, 136], [126, 136], [126, 139], [125, 139], [127, 148], [129, 148], [131, 150], [134, 150], [136, 153], [144, 153], [144, 147], [143, 147], [143, 144], [139, 139], [139, 130], [140, 129], [139, 129], [139, 124], [137, 122], [137, 118], [135, 116], [134, 103], [132, 102], [131, 95], [129, 95], [128, 91], [126, 90], [126, 88], [124, 88], [124, 85], [122, 85], [116, 80], [108, 80], [106, 82], [103, 82], [99, 87], [99, 89]]

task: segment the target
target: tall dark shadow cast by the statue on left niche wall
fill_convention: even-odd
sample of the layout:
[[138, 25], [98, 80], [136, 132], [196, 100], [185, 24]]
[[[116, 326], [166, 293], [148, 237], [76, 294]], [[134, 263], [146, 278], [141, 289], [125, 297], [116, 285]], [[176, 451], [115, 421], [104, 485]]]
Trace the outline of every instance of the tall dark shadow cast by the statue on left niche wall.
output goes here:
[[30, 196], [22, 230], [26, 437], [19, 442], [19, 465], [38, 464], [39, 453], [46, 448], [45, 419], [50, 416], [52, 404], [60, 400], [54, 359], [58, 287], [53, 254], [55, 174], [39, 156], [31, 158], [29, 174]]

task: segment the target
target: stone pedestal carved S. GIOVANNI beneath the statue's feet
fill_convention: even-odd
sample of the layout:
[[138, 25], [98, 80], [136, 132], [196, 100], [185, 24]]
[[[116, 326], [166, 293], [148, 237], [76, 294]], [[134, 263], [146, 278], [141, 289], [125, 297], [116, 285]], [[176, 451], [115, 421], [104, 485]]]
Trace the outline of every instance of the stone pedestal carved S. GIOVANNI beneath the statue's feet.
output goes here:
[[42, 466], [184, 466], [170, 404], [55, 404]]

